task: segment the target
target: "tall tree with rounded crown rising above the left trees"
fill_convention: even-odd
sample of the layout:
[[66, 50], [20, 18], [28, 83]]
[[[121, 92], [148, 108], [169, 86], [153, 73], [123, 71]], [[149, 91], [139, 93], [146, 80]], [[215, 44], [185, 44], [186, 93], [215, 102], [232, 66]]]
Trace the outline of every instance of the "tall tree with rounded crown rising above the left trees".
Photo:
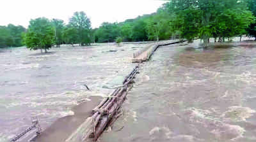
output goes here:
[[73, 17], [69, 19], [68, 25], [77, 30], [77, 41], [81, 46], [90, 45], [92, 42], [92, 26], [90, 18], [83, 11], [75, 12]]

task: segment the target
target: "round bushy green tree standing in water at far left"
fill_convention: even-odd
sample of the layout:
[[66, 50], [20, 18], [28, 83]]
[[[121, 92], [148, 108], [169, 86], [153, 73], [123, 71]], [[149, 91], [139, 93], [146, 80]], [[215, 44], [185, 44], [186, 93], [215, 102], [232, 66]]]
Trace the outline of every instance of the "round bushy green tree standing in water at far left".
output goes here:
[[24, 36], [24, 43], [29, 50], [45, 50], [45, 53], [54, 45], [54, 27], [47, 18], [30, 20], [28, 31]]

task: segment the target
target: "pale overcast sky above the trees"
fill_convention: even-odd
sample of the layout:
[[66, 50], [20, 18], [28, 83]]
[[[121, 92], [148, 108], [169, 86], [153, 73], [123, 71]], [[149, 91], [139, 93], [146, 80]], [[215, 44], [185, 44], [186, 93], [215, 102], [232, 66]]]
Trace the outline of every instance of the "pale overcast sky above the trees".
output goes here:
[[31, 18], [59, 18], [68, 22], [75, 11], [84, 11], [99, 27], [102, 22], [122, 22], [156, 12], [161, 0], [0, 0], [0, 25], [23, 25]]

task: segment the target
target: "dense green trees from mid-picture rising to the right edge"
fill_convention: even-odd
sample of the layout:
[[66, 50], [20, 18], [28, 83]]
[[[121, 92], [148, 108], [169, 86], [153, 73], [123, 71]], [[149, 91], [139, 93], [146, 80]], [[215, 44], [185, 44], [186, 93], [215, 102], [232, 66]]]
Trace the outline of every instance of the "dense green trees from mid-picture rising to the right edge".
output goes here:
[[96, 31], [97, 42], [112, 42], [118, 36], [124, 41], [200, 38], [207, 46], [209, 38], [255, 37], [255, 5], [256, 0], [171, 0], [152, 15], [108, 23], [115, 28], [102, 24]]

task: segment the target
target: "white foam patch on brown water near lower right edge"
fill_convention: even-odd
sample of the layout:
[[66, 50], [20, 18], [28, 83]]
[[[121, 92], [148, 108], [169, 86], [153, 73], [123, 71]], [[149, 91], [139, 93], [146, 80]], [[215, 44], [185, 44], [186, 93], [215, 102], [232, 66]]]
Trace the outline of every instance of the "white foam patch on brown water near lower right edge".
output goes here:
[[255, 110], [243, 106], [230, 106], [228, 111], [225, 111], [221, 117], [227, 118], [233, 121], [246, 121], [246, 118], [252, 117]]

